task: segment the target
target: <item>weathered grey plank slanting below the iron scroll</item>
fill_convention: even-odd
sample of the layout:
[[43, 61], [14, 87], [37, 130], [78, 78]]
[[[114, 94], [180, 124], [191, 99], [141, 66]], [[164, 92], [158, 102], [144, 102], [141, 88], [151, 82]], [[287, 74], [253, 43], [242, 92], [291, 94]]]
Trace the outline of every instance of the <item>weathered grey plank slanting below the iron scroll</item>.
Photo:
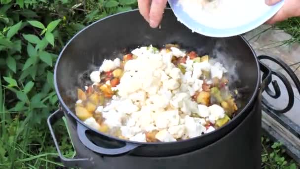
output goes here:
[[281, 142], [286, 148], [287, 154], [300, 164], [300, 138], [264, 111], [262, 112], [262, 127], [271, 139]]

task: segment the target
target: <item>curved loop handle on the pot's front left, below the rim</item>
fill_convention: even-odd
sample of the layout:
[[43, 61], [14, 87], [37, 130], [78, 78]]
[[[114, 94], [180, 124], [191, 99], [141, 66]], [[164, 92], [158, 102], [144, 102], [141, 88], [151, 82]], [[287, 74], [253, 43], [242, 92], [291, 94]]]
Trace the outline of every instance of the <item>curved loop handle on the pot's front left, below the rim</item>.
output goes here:
[[137, 147], [141, 146], [140, 144], [132, 144], [132, 143], [125, 143], [123, 147], [120, 148], [104, 148], [104, 147], [99, 147], [96, 144], [94, 144], [92, 141], [90, 141], [87, 136], [86, 136], [86, 131], [90, 130], [80, 123], [77, 123], [77, 133], [80, 141], [83, 143], [85, 147], [88, 149], [102, 154], [106, 156], [121, 156], [124, 154], [127, 154], [131, 152], [132, 150], [136, 149]]

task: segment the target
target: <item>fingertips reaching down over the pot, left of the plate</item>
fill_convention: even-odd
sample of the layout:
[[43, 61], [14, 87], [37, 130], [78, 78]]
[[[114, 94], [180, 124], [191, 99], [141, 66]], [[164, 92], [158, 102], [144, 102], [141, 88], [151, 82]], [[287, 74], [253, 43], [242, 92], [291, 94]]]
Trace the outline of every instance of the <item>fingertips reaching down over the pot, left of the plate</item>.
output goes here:
[[146, 21], [149, 22], [150, 27], [158, 27], [167, 4], [167, 0], [138, 0], [138, 4], [140, 13]]

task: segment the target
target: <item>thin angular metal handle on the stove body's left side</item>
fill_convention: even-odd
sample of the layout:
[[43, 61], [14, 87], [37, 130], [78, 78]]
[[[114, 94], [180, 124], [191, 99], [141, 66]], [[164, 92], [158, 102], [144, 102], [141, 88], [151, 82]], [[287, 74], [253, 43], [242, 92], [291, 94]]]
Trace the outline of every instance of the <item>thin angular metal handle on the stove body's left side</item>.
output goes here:
[[59, 155], [59, 158], [60, 158], [61, 162], [63, 163], [63, 165], [65, 167], [68, 167], [68, 168], [81, 167], [82, 166], [81, 164], [83, 162], [84, 162], [84, 164], [90, 163], [90, 159], [87, 159], [87, 158], [86, 159], [67, 159], [62, 155], [62, 153], [59, 149], [59, 144], [58, 144], [57, 139], [55, 137], [53, 127], [52, 127], [52, 125], [54, 125], [62, 117], [64, 117], [64, 112], [61, 111], [61, 110], [56, 110], [53, 114], [51, 114], [48, 117], [48, 120], [47, 120], [48, 127], [50, 129], [51, 136], [52, 136], [52, 139], [54, 141], [54, 144], [55, 144], [55, 147], [56, 147], [56, 150], [58, 152], [58, 155]]

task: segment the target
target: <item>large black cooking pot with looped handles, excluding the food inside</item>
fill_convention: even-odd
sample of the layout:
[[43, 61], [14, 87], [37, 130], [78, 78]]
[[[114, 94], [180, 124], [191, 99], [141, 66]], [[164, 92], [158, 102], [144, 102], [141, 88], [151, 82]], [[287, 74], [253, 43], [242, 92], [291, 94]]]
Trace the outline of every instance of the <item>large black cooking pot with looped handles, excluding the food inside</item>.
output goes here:
[[[237, 88], [241, 95], [238, 98], [238, 114], [228, 124], [188, 140], [140, 143], [101, 133], [88, 127], [75, 116], [77, 87], [84, 88], [84, 85], [90, 83], [89, 73], [97, 69], [104, 59], [121, 56], [124, 52], [141, 45], [162, 47], [166, 43], [178, 43], [188, 50], [195, 50], [203, 55], [209, 54], [224, 63], [231, 75], [230, 88]], [[264, 72], [263, 82], [261, 71]], [[257, 96], [270, 83], [270, 77], [270, 70], [258, 60], [243, 37], [218, 39], [192, 33], [177, 21], [170, 9], [166, 9], [164, 13], [161, 29], [151, 29], [138, 10], [112, 15], [91, 24], [76, 34], [64, 47], [54, 74], [61, 109], [65, 115], [73, 117], [72, 123], [77, 123], [77, 133], [82, 144], [101, 155], [119, 156], [131, 153], [147, 157], [187, 153], [222, 138], [249, 114]]]

